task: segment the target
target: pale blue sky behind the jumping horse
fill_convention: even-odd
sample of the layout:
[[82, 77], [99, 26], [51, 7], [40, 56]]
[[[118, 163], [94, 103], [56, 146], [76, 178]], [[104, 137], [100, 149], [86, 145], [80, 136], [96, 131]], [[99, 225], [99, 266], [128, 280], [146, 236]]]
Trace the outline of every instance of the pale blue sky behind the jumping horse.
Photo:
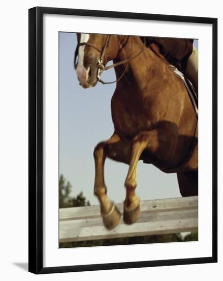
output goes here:
[[[198, 40], [194, 41], [197, 46]], [[91, 205], [98, 204], [93, 195], [93, 150], [98, 142], [109, 138], [114, 126], [111, 119], [111, 97], [115, 84], [83, 89], [73, 68], [77, 38], [75, 33], [59, 34], [59, 170], [72, 185], [72, 194], [81, 191]], [[115, 80], [114, 69], [103, 74], [103, 80]], [[128, 165], [106, 159], [105, 181], [108, 196], [115, 202], [125, 199], [124, 181]], [[141, 200], [180, 197], [176, 174], [165, 174], [139, 161], [138, 186]]]

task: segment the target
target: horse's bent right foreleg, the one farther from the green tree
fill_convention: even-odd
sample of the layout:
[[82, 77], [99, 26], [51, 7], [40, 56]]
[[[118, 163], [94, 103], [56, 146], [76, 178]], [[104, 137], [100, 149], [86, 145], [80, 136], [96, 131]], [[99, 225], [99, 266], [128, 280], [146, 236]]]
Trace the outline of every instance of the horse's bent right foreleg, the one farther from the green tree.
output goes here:
[[136, 222], [140, 216], [140, 199], [135, 194], [137, 186], [137, 166], [143, 150], [149, 151], [158, 159], [171, 158], [176, 149], [177, 133], [167, 126], [151, 131], [142, 131], [132, 140], [129, 171], [126, 177], [126, 199], [123, 220], [127, 224]]

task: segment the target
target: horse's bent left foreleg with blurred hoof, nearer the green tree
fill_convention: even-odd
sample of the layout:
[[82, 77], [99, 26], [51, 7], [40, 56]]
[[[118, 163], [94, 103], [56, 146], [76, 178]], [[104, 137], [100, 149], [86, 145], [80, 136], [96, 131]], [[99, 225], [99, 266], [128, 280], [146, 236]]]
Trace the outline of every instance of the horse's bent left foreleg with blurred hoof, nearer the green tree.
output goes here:
[[115, 204], [111, 202], [107, 196], [107, 188], [104, 179], [104, 165], [106, 159], [106, 150], [108, 146], [120, 141], [117, 134], [113, 134], [110, 139], [99, 143], [94, 149], [95, 162], [95, 180], [94, 180], [94, 194], [98, 197], [101, 203], [101, 214], [106, 228], [114, 228], [120, 220], [120, 212]]

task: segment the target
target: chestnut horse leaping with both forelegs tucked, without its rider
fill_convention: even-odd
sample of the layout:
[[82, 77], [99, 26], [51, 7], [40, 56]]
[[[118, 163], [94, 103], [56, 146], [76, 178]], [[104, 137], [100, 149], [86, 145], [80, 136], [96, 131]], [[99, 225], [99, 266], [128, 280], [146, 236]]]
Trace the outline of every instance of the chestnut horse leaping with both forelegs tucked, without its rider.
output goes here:
[[[107, 229], [115, 228], [120, 212], [107, 196], [106, 157], [129, 165], [125, 180], [123, 221], [140, 217], [136, 195], [139, 160], [165, 173], [177, 173], [183, 197], [198, 193], [197, 115], [182, 79], [155, 46], [139, 36], [77, 34], [75, 68], [80, 85], [90, 88], [103, 71], [114, 67], [116, 88], [111, 99], [114, 132], [96, 145], [94, 195]], [[78, 62], [77, 62], [78, 57]], [[112, 65], [106, 66], [109, 61]]]

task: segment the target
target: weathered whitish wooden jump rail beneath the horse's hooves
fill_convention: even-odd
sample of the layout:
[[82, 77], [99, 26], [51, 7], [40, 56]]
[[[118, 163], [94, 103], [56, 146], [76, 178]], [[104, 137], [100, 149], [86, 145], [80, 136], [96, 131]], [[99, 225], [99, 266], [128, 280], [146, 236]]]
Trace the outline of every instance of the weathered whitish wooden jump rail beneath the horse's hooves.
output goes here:
[[[73, 242], [196, 231], [197, 203], [197, 196], [141, 201], [139, 220], [132, 225], [126, 225], [121, 216], [119, 225], [112, 230], [104, 227], [99, 205], [61, 208], [59, 241]], [[122, 215], [123, 203], [116, 206]]]

